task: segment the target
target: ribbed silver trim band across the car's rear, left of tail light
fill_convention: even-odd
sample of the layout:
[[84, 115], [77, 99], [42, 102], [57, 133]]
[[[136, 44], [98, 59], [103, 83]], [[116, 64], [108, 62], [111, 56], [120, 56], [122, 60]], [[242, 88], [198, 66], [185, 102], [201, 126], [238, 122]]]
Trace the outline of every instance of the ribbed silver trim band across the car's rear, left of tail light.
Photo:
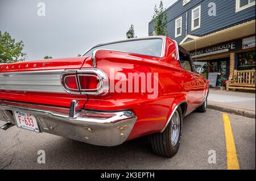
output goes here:
[[0, 73], [0, 90], [64, 93], [60, 74], [64, 70], [16, 71]]

